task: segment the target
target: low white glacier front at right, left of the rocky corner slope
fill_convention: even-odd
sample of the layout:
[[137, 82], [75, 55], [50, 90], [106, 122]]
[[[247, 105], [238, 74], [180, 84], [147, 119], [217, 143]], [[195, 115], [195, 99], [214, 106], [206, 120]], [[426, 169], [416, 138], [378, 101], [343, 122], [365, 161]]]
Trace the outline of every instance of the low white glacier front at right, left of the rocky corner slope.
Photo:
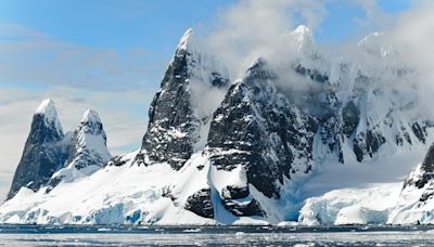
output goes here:
[[367, 188], [333, 190], [311, 197], [299, 211], [306, 225], [385, 224], [399, 196], [401, 183]]

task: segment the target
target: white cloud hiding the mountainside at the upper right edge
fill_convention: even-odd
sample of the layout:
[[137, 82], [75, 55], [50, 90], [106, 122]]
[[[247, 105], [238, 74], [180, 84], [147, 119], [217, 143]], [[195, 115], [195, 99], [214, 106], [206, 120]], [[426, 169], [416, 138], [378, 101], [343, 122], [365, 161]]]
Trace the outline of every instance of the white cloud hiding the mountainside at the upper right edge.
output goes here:
[[[394, 22], [384, 29], [381, 44], [395, 51], [396, 54], [388, 61], [401, 67], [414, 69], [411, 78], [407, 78], [407, 86], [418, 88], [420, 112], [434, 116], [434, 2], [414, 1], [414, 6], [403, 11]], [[392, 87], [400, 87], [392, 81]], [[403, 83], [401, 83], [403, 84]]]

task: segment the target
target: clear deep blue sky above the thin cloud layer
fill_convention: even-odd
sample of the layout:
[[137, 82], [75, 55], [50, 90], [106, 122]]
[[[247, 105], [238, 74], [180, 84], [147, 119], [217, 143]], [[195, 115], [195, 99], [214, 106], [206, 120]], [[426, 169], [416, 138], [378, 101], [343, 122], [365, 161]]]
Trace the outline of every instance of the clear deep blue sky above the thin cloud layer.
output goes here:
[[[59, 39], [99, 48], [144, 47], [170, 56], [189, 27], [203, 28], [235, 0], [3, 0], [0, 23], [13, 23]], [[387, 13], [408, 9], [409, 0], [379, 0]], [[317, 32], [320, 40], [342, 40], [354, 35], [363, 9], [347, 0], [327, 4], [328, 14]], [[303, 21], [299, 21], [301, 23]]]

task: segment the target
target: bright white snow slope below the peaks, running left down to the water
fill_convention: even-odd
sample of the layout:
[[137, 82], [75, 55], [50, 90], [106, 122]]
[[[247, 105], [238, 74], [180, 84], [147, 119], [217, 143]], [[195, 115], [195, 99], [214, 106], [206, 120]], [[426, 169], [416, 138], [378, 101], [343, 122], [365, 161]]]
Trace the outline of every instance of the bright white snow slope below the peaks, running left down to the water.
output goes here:
[[202, 198], [195, 192], [206, 194], [208, 187], [209, 165], [197, 168], [206, 160], [201, 154], [193, 155], [178, 171], [168, 164], [133, 165], [136, 155], [124, 156], [123, 166], [107, 166], [74, 183], [61, 183], [48, 194], [43, 188], [36, 193], [22, 188], [2, 205], [0, 220], [39, 224], [265, 223], [235, 218], [222, 206], [216, 206], [218, 220], [192, 212], [191, 207], [197, 207]]

